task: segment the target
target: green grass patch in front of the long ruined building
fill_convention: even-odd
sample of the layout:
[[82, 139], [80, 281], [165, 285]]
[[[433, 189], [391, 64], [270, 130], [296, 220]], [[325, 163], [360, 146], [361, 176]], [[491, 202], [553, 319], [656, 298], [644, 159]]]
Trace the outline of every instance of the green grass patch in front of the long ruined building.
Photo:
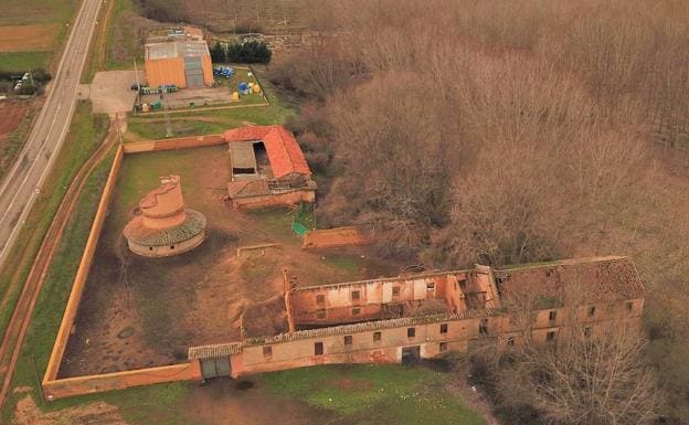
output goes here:
[[424, 366], [327, 365], [258, 378], [273, 393], [333, 411], [357, 424], [484, 424], [446, 390], [452, 373]]

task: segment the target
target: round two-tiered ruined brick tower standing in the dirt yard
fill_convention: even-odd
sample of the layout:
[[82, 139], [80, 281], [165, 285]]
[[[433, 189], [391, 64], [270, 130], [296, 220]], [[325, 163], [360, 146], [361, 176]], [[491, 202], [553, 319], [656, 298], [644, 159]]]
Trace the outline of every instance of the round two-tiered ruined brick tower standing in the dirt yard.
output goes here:
[[205, 216], [184, 208], [179, 176], [160, 178], [160, 187], [139, 201], [138, 215], [124, 231], [132, 253], [168, 257], [199, 246], [205, 237]]

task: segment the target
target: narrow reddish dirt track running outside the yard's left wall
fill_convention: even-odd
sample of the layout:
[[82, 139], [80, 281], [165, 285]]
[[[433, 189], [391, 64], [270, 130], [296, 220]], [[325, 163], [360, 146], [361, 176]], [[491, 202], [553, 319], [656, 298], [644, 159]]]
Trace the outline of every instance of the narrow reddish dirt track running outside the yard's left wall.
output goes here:
[[17, 359], [21, 352], [35, 302], [45, 281], [53, 255], [60, 244], [62, 233], [72, 216], [72, 211], [76, 206], [78, 195], [88, 176], [91, 176], [95, 167], [106, 157], [116, 142], [117, 125], [118, 120], [114, 119], [110, 121], [110, 129], [103, 145], [96, 149], [76, 173], [53, 217], [51, 226], [43, 237], [29, 277], [23, 284], [24, 286], [21, 290], [20, 298], [14, 306], [14, 311], [12, 312], [10, 322], [2, 337], [2, 342], [0, 343], [0, 378], [2, 379], [0, 406], [4, 403], [10, 390]]

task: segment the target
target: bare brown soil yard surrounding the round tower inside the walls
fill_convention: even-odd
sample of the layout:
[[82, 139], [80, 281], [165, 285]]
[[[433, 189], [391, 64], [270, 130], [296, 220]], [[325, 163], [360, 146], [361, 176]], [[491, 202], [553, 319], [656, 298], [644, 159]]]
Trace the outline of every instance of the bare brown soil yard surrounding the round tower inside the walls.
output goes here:
[[[186, 204], [208, 221], [198, 248], [168, 258], [129, 252], [121, 234], [158, 177], [181, 177]], [[237, 211], [222, 194], [230, 181], [225, 146], [126, 156], [59, 376], [174, 364], [189, 347], [287, 331], [283, 269], [299, 285], [390, 275], [400, 265], [359, 248], [301, 249], [293, 211]], [[283, 249], [237, 257], [237, 247]]]

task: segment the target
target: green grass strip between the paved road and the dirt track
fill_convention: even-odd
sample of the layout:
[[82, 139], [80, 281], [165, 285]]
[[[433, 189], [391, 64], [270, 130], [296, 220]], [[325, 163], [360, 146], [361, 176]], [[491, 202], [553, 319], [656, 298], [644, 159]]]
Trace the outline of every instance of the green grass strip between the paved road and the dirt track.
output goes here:
[[91, 104], [80, 103], [63, 148], [47, 177], [46, 184], [36, 198], [33, 209], [22, 227], [14, 247], [10, 252], [2, 269], [0, 269], [0, 295], [10, 293], [8, 308], [0, 311], [0, 331], [4, 331], [13, 306], [19, 297], [21, 285], [13, 285], [14, 279], [24, 281], [39, 249], [43, 235], [50, 226], [53, 215], [66, 192], [72, 179], [82, 163], [96, 149], [107, 131], [105, 115], [91, 115]]

